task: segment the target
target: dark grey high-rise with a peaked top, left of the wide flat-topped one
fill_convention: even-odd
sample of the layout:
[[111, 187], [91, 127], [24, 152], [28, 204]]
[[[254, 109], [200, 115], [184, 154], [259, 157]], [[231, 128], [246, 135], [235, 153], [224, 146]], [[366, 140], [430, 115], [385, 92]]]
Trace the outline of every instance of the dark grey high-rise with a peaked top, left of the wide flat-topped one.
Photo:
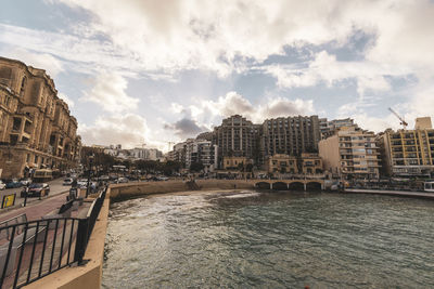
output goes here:
[[[234, 115], [214, 128], [213, 143], [218, 146], [219, 162], [222, 157], [258, 159], [260, 126]], [[222, 166], [221, 166], [222, 167]]]

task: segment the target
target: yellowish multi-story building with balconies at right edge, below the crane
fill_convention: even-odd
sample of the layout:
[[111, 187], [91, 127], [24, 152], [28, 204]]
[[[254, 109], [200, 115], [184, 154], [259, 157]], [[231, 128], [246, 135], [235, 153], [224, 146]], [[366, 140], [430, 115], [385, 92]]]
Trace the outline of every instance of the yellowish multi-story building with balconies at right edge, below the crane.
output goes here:
[[434, 175], [434, 129], [431, 118], [418, 118], [414, 130], [386, 130], [376, 137], [387, 176]]

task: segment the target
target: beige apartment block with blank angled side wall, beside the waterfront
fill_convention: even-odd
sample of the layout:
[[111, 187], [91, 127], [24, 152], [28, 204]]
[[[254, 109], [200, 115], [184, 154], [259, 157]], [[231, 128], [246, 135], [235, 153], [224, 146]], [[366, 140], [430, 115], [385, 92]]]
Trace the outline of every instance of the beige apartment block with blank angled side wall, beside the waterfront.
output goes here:
[[344, 179], [379, 179], [379, 148], [373, 132], [343, 127], [319, 142], [324, 169]]

